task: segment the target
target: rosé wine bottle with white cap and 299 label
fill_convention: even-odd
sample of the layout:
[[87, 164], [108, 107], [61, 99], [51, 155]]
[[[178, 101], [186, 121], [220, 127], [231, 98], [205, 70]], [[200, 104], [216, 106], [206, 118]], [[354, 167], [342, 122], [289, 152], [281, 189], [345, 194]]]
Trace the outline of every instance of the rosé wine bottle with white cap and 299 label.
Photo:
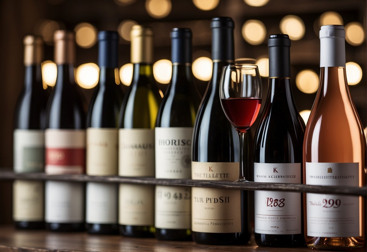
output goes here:
[[[363, 187], [366, 139], [346, 79], [342, 25], [321, 26], [320, 68], [319, 89], [305, 131], [304, 183]], [[363, 246], [363, 197], [307, 193], [304, 204], [307, 246]]]

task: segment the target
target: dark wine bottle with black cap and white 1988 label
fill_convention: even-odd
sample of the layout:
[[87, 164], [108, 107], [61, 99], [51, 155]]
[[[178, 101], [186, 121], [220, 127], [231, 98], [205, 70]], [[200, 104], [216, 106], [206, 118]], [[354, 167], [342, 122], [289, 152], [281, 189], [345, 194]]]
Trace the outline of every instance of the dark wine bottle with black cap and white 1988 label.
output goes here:
[[[255, 133], [255, 182], [302, 183], [305, 123], [292, 95], [290, 46], [286, 34], [269, 37], [269, 91]], [[254, 206], [257, 245], [305, 244], [300, 193], [255, 191]]]

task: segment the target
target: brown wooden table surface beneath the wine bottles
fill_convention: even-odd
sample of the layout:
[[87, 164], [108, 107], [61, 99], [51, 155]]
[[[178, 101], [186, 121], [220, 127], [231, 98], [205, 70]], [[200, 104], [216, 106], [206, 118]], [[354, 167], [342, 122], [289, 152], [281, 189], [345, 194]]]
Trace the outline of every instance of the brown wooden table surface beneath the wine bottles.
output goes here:
[[[46, 230], [16, 230], [12, 225], [0, 226], [1, 252], [312, 252], [309, 248], [264, 248], [253, 240], [242, 246], [200, 245], [195, 242], [159, 241], [155, 238], [130, 238], [120, 235], [55, 233]], [[366, 252], [366, 248], [353, 250]]]

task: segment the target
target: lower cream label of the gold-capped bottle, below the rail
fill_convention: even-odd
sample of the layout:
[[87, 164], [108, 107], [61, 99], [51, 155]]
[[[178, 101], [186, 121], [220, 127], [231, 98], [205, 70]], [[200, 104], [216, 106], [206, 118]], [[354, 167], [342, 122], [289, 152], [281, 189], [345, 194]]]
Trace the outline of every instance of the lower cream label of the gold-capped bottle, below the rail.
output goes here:
[[154, 225], [154, 186], [120, 184], [119, 224]]

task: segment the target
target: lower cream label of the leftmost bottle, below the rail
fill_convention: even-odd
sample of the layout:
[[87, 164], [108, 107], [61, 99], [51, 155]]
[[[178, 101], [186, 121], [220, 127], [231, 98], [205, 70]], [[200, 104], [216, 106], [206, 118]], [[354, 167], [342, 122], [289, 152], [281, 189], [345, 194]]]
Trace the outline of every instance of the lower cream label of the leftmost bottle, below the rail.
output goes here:
[[13, 219], [16, 222], [42, 222], [43, 181], [15, 180], [13, 183]]

